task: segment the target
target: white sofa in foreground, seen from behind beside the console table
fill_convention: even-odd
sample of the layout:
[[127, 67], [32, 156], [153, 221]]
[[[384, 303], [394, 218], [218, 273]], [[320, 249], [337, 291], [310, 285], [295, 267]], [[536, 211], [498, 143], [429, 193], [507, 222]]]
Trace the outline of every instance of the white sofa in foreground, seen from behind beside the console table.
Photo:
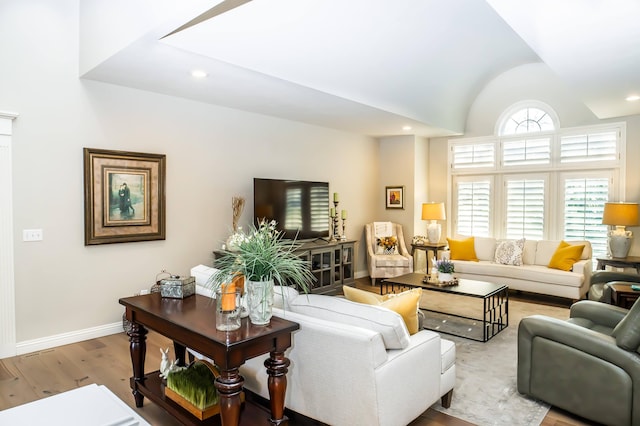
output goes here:
[[[212, 271], [191, 270], [198, 294], [211, 297], [203, 285]], [[404, 426], [438, 399], [451, 403], [455, 344], [428, 330], [409, 335], [396, 312], [276, 286], [274, 315], [300, 324], [285, 353], [285, 406], [297, 413], [332, 426]], [[267, 357], [248, 360], [240, 374], [268, 399]]]

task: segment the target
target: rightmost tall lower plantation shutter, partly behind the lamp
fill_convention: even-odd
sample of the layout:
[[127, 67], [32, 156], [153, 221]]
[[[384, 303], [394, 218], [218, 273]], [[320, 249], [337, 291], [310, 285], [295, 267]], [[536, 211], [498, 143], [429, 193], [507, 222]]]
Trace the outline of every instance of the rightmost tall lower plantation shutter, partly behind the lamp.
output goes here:
[[607, 226], [602, 224], [609, 200], [609, 178], [568, 178], [564, 183], [564, 238], [589, 240], [594, 254], [607, 252]]

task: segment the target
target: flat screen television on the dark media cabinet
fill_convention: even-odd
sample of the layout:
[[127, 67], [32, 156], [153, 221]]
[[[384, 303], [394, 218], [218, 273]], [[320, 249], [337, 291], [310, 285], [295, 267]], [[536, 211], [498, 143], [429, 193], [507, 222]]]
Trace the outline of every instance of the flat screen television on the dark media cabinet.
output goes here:
[[253, 179], [253, 219], [277, 222], [283, 238], [329, 236], [329, 183]]

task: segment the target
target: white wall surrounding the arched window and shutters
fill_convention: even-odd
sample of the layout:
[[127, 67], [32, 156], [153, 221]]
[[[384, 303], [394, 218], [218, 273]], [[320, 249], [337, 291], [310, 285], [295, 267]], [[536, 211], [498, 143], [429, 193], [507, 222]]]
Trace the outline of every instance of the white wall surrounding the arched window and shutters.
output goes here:
[[[527, 64], [497, 76], [476, 97], [467, 117], [463, 137], [490, 136], [500, 115], [509, 106], [523, 100], [538, 100], [551, 106], [563, 128], [602, 124], [627, 123], [626, 200], [640, 202], [640, 116], [599, 120], [584, 106], [575, 93], [562, 84], [544, 64]], [[455, 139], [455, 138], [450, 138]], [[429, 141], [429, 193], [433, 199], [445, 199], [450, 193], [446, 179], [448, 169], [447, 138]], [[447, 213], [450, 209], [447, 209]], [[451, 235], [450, 221], [447, 235]], [[444, 229], [444, 228], [443, 228]], [[640, 255], [640, 228], [630, 227], [636, 235], [630, 255]]]

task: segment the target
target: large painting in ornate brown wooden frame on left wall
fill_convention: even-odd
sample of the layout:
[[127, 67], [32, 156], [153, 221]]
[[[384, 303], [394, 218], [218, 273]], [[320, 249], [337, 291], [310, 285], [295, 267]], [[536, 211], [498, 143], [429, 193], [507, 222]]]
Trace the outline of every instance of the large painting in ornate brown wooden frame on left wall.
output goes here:
[[84, 148], [84, 244], [165, 239], [163, 154]]

